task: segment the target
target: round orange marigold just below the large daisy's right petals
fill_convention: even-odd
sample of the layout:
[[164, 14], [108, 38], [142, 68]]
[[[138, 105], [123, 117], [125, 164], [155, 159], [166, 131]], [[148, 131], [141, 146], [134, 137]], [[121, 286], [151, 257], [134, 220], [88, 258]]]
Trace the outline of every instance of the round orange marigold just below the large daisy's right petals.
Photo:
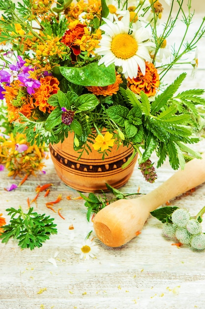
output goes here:
[[144, 91], [147, 97], [156, 94], [156, 89], [159, 87], [159, 74], [153, 63], [146, 62], [145, 75], [139, 70], [136, 78], [127, 78], [127, 86], [136, 94]]

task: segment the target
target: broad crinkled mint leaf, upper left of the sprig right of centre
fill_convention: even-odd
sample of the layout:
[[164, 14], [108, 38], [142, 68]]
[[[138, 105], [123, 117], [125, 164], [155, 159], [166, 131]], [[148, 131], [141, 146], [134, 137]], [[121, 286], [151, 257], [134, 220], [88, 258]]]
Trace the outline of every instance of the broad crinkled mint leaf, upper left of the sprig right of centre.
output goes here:
[[124, 126], [124, 121], [129, 114], [128, 108], [121, 105], [111, 106], [107, 110], [108, 116], [113, 119], [119, 126]]

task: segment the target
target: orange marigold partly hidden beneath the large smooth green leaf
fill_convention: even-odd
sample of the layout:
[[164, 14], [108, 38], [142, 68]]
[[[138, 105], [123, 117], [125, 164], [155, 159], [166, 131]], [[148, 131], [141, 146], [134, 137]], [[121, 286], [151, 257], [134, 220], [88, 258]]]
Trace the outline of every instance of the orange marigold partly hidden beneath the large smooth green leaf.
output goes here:
[[120, 83], [122, 83], [121, 75], [116, 73], [116, 81], [114, 84], [105, 87], [89, 86], [86, 88], [95, 95], [103, 95], [105, 97], [107, 95], [117, 94]]

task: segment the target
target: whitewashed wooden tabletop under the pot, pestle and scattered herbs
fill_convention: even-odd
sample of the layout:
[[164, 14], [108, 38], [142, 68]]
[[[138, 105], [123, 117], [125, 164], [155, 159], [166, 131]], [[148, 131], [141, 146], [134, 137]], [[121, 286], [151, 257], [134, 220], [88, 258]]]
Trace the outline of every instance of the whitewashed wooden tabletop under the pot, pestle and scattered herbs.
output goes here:
[[[205, 40], [200, 43], [199, 52], [202, 65], [195, 80], [187, 71], [186, 89], [204, 88]], [[176, 70], [171, 78], [179, 73]], [[196, 148], [204, 152], [205, 141]], [[152, 158], [155, 160], [154, 155]], [[16, 241], [0, 243], [0, 309], [205, 308], [205, 251], [173, 246], [172, 241], [162, 237], [162, 224], [151, 216], [142, 233], [122, 247], [110, 248], [95, 238], [99, 247], [96, 258], [81, 260], [74, 253], [74, 246], [93, 230], [92, 223], [86, 219], [84, 200], [66, 199], [68, 195], [78, 197], [79, 193], [59, 180], [51, 159], [46, 160], [45, 170], [46, 175], [30, 176], [22, 187], [11, 192], [4, 188], [12, 180], [8, 179], [6, 170], [0, 172], [0, 212], [4, 215], [5, 209], [11, 206], [21, 205], [26, 210], [27, 198], [35, 196], [35, 188], [53, 183], [49, 200], [62, 194], [58, 207], [65, 218], [47, 209], [44, 194], [40, 194], [34, 209], [55, 218], [58, 234], [33, 251], [21, 250]], [[140, 187], [141, 193], [148, 193], [173, 173], [166, 161], [157, 170], [156, 182], [148, 184], [136, 165], [131, 179], [120, 190], [135, 193]], [[18, 184], [20, 179], [14, 182]], [[205, 185], [171, 201], [171, 206], [186, 207], [191, 215], [196, 215], [204, 205]], [[71, 224], [74, 230], [69, 230]], [[203, 227], [205, 232], [205, 223]], [[56, 267], [48, 260], [57, 252]]]

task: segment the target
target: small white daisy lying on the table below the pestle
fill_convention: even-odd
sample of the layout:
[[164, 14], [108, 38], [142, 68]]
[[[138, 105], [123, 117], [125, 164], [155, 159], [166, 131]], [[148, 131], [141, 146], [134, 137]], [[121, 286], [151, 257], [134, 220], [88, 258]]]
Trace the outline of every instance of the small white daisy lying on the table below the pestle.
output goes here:
[[94, 241], [86, 239], [81, 244], [75, 245], [74, 252], [80, 254], [80, 259], [88, 260], [94, 258], [98, 251], [98, 246], [95, 245]]

